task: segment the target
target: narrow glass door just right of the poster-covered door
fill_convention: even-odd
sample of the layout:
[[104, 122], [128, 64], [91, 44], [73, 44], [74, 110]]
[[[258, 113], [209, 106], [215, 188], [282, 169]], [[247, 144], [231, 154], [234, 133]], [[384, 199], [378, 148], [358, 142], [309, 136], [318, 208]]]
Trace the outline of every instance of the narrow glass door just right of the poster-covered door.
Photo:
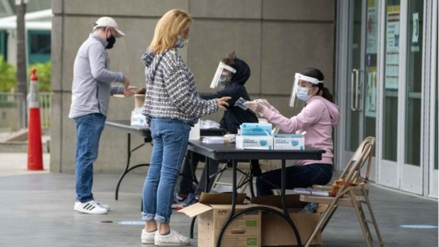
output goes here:
[[424, 0], [407, 1], [407, 38], [405, 45], [405, 92], [401, 122], [403, 129], [403, 167], [401, 189], [423, 193], [423, 172], [421, 169], [421, 129], [423, 101], [423, 23]]

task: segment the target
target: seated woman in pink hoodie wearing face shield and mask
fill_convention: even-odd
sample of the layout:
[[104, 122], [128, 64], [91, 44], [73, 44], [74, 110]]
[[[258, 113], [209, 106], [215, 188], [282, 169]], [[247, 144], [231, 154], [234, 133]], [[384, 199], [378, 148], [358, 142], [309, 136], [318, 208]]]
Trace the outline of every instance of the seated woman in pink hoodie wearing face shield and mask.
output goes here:
[[[306, 102], [298, 115], [284, 117], [265, 99], [246, 103], [248, 108], [268, 119], [283, 132], [306, 131], [305, 145], [326, 151], [320, 161], [299, 160], [295, 161], [293, 166], [287, 167], [287, 189], [329, 183], [333, 169], [332, 128], [337, 126], [340, 120], [340, 110], [332, 103], [333, 97], [329, 90], [323, 86], [322, 72], [309, 68], [302, 71], [301, 75], [315, 80], [297, 82], [296, 97]], [[258, 196], [272, 195], [272, 189], [281, 187], [281, 169], [263, 173], [257, 178], [256, 187]]]

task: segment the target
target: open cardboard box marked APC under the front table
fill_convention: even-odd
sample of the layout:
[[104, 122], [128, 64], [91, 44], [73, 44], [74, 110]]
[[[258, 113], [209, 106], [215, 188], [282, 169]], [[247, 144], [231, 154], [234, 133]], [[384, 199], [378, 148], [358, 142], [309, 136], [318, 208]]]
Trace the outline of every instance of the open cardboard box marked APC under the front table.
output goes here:
[[[244, 193], [238, 194], [235, 212], [254, 206], [243, 204], [245, 197]], [[219, 231], [230, 213], [231, 200], [231, 194], [202, 193], [200, 202], [180, 209], [180, 213], [198, 217], [198, 246], [216, 246]], [[224, 231], [222, 246], [261, 246], [261, 211], [250, 211], [233, 219]]]

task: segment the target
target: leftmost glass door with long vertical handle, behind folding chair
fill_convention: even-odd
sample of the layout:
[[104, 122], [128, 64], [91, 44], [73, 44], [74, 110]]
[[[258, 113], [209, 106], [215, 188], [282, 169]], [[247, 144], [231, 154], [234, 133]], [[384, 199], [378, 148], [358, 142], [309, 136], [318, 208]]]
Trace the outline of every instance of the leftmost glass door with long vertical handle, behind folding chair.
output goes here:
[[[348, 83], [344, 113], [343, 164], [366, 137], [376, 137], [377, 119], [377, 51], [379, 1], [348, 1], [350, 34], [348, 36]], [[370, 178], [375, 178], [376, 162], [372, 161]]]

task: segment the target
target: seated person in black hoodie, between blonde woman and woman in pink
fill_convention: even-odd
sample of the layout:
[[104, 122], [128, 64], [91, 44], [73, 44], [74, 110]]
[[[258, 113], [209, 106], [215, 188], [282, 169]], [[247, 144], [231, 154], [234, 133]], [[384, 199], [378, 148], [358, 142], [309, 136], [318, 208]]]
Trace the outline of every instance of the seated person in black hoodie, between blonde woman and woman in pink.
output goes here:
[[[200, 95], [202, 99], [215, 99], [223, 96], [232, 97], [228, 100], [228, 106], [224, 111], [224, 115], [222, 119], [219, 121], [219, 126], [227, 130], [230, 134], [237, 134], [237, 130], [242, 123], [257, 123], [258, 118], [251, 110], [244, 110], [238, 106], [235, 106], [235, 102], [242, 97], [248, 101], [250, 101], [250, 96], [247, 93], [246, 84], [248, 78], [250, 78], [250, 67], [248, 67], [247, 63], [244, 60], [241, 60], [236, 57], [235, 51], [231, 51], [227, 54], [226, 58], [221, 59], [222, 62], [227, 64], [233, 69], [236, 69], [236, 73], [230, 73], [228, 76], [224, 77], [225, 80], [221, 81], [224, 89], [217, 91], [216, 93], [211, 93], [209, 95]], [[195, 171], [198, 161], [204, 161], [205, 157], [201, 154], [192, 153], [191, 158], [191, 166], [185, 163], [183, 164], [183, 176], [180, 181], [180, 189], [176, 194], [177, 200], [185, 200], [183, 203], [184, 206], [187, 204], [192, 204], [198, 197], [200, 193], [204, 191], [204, 185], [206, 184], [204, 172], [202, 173], [200, 183], [198, 183], [198, 187], [194, 189], [193, 179], [191, 178], [192, 171]], [[259, 169], [259, 161], [252, 160], [252, 172], [255, 176], [261, 174], [261, 170]], [[215, 173], [217, 172], [219, 162], [209, 159], [209, 175], [211, 177], [209, 183], [209, 191], [213, 185], [213, 180], [215, 179]]]

